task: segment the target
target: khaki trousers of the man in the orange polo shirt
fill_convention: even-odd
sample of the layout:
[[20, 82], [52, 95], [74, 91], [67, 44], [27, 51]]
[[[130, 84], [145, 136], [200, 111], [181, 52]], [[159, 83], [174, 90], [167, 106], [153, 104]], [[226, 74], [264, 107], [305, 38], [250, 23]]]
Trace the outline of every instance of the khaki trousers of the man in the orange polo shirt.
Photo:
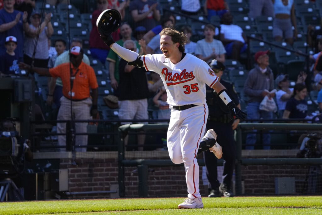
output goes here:
[[[61, 106], [58, 111], [57, 120], [70, 120], [71, 119], [71, 101], [62, 96], [60, 99]], [[89, 120], [90, 119], [90, 107], [92, 100], [87, 98], [83, 101], [72, 102], [72, 114], [75, 120]], [[88, 122], [76, 122], [76, 133], [87, 132]], [[66, 122], [57, 123], [57, 133], [66, 133]], [[88, 136], [76, 135], [75, 147], [86, 146]], [[58, 135], [58, 145], [66, 147], [66, 135]], [[66, 151], [66, 148], [60, 148], [60, 151]], [[86, 151], [86, 148], [76, 148], [76, 151]]]

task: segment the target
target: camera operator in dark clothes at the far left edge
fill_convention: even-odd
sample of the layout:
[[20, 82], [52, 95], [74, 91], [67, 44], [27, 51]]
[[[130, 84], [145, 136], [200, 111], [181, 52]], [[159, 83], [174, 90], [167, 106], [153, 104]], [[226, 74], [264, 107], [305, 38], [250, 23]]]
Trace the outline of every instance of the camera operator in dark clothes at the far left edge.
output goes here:
[[[8, 194], [9, 200], [24, 200], [24, 189], [23, 189], [23, 174], [24, 174], [24, 166], [25, 161], [32, 161], [33, 160], [33, 153], [30, 150], [30, 141], [23, 140], [20, 138], [16, 127], [15, 122], [12, 119], [5, 119], [1, 121], [0, 124], [0, 131], [1, 131], [1, 137], [3, 138], [16, 138], [16, 142], [19, 144], [18, 146], [18, 154], [16, 156], [11, 156], [11, 164], [14, 168], [14, 171], [8, 172], [8, 174], [3, 174], [3, 172], [0, 173], [0, 179], [9, 178], [11, 179], [15, 185], [18, 187], [18, 192], [21, 193], [21, 195], [15, 193], [14, 190], [11, 190]], [[9, 155], [6, 155], [9, 157]], [[8, 163], [2, 163], [5, 165], [5, 168], [8, 167]], [[2, 165], [1, 165], [2, 166]]]

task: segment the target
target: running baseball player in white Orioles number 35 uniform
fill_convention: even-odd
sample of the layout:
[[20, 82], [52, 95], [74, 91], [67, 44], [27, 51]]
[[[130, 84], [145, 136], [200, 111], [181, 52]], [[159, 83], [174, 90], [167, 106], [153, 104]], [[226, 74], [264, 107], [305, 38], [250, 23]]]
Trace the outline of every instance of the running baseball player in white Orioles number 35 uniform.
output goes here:
[[169, 156], [176, 164], [184, 163], [188, 187], [188, 198], [178, 208], [203, 208], [196, 155], [210, 149], [218, 159], [222, 157], [221, 146], [215, 140], [216, 133], [209, 130], [204, 135], [208, 118], [205, 84], [219, 94], [236, 117], [243, 120], [246, 113], [232, 102], [207, 63], [184, 52], [187, 38], [182, 32], [165, 28], [160, 36], [163, 54], [143, 56], [119, 46], [109, 35], [101, 38], [115, 53], [130, 62], [129, 65], [144, 66], [146, 70], [160, 74], [171, 108], [167, 132]]

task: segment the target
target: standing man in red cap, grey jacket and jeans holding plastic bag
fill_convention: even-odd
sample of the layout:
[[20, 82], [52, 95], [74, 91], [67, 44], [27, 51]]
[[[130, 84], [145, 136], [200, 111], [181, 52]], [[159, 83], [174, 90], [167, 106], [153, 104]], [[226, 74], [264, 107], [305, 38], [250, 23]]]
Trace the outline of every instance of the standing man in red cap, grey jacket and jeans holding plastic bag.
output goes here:
[[[269, 65], [269, 51], [259, 51], [255, 54], [257, 65], [249, 73], [244, 85], [244, 93], [249, 96], [247, 110], [248, 119], [272, 119], [273, 113], [259, 109], [260, 102], [267, 95], [274, 97], [275, 93], [269, 93], [274, 89], [274, 76]], [[256, 133], [250, 133], [246, 138], [246, 149], [254, 149]], [[270, 134], [263, 134], [263, 149], [270, 149]]]

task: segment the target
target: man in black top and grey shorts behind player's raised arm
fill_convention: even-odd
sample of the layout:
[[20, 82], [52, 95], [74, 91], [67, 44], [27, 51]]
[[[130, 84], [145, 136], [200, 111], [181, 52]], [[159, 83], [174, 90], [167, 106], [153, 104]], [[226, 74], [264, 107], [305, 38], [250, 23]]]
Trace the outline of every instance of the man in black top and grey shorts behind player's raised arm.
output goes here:
[[[127, 40], [124, 42], [123, 47], [131, 51], [137, 50], [137, 45], [133, 40]], [[147, 120], [147, 76], [145, 69], [137, 68], [135, 66], [128, 65], [128, 62], [121, 59], [119, 62], [119, 98], [118, 117], [122, 120], [128, 119], [142, 119]], [[127, 124], [129, 122], [122, 122]], [[143, 150], [143, 144], [145, 141], [145, 135], [137, 135], [139, 151]], [[127, 138], [125, 139], [127, 142]]]

